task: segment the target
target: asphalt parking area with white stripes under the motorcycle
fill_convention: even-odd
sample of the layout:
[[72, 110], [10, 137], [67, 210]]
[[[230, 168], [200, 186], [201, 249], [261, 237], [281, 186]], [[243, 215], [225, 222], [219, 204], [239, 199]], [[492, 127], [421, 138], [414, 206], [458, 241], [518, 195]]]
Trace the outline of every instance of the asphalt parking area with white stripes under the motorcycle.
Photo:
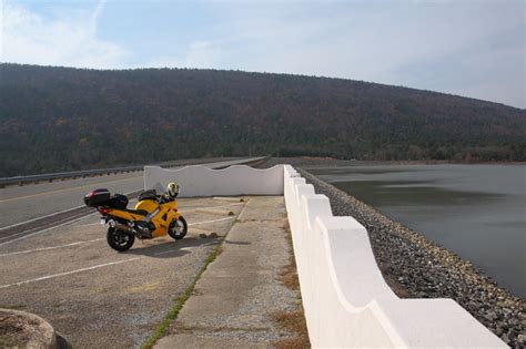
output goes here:
[[[124, 175], [121, 188], [135, 188], [138, 179]], [[89, 185], [84, 183], [73, 188], [82, 192]], [[63, 193], [75, 193], [69, 188], [64, 186]], [[184, 239], [136, 240], [127, 253], [107, 245], [98, 214], [3, 242], [0, 308], [43, 317], [75, 348], [139, 347], [219, 244], [219, 238], [200, 235], [224, 236], [244, 205], [182, 198], [179, 207], [190, 225]], [[199, 207], [215, 207], [220, 213], [203, 213]]]

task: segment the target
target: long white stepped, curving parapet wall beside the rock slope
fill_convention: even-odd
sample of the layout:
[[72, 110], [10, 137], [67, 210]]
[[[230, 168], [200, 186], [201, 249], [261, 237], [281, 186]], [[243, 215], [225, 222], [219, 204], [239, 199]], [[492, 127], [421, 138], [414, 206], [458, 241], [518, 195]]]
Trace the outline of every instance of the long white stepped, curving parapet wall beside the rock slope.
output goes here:
[[452, 299], [399, 299], [366, 229], [289, 165], [284, 195], [313, 347], [507, 348]]

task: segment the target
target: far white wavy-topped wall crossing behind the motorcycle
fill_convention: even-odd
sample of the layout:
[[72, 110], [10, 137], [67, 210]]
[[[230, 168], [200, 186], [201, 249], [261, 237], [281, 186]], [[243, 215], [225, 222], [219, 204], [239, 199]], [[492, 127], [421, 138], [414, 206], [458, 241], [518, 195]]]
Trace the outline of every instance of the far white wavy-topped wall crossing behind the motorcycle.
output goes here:
[[246, 165], [234, 165], [223, 170], [211, 170], [201, 165], [180, 170], [144, 166], [144, 189], [164, 192], [166, 185], [176, 181], [180, 197], [220, 195], [283, 195], [283, 165], [266, 170]]

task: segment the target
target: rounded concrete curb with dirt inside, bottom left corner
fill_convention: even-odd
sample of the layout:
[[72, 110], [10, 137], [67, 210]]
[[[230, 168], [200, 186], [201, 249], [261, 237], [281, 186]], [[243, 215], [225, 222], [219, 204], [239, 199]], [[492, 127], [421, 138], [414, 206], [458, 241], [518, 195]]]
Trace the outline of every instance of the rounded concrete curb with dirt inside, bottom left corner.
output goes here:
[[64, 349], [71, 345], [41, 317], [0, 308], [0, 347]]

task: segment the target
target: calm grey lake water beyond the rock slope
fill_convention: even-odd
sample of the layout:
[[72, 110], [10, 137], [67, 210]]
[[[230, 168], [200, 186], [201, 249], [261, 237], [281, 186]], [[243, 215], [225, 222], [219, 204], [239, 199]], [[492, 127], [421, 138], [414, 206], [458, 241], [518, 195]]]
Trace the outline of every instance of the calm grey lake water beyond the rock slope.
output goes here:
[[526, 299], [525, 165], [308, 168]]

